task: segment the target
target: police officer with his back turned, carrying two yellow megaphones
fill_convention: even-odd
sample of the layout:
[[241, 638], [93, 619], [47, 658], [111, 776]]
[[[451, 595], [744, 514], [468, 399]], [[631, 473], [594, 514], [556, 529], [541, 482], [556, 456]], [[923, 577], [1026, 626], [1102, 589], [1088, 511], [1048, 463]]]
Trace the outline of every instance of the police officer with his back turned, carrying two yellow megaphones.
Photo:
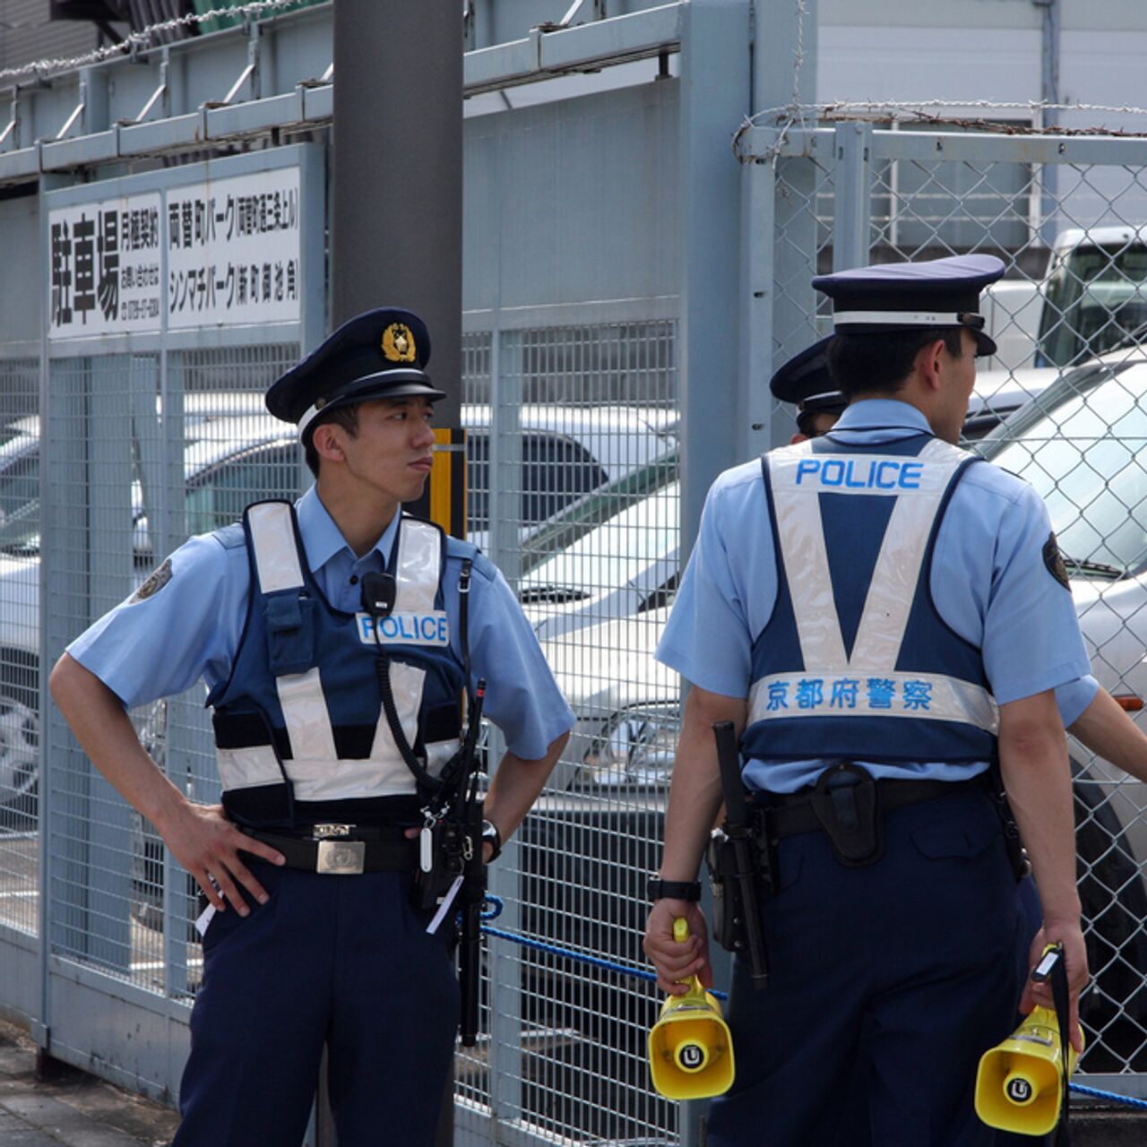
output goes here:
[[[1001, 274], [973, 256], [814, 281], [850, 406], [830, 438], [715, 483], [658, 647], [692, 684], [646, 931], [664, 990], [711, 980], [696, 873], [720, 801], [715, 721], [741, 733], [775, 841], [771, 980], [754, 991], [734, 963], [720, 1147], [846, 1142], [855, 1075], [882, 1147], [993, 1141], [973, 1082], [1011, 1030], [1025, 931], [980, 780], [997, 754], [1044, 902], [1033, 947], [1064, 946], [1078, 1047], [1086, 955], [1053, 690], [1087, 660], [1043, 504], [954, 446], [974, 358], [993, 349], [978, 292]], [[1037, 999], [1052, 1004], [1025, 984], [1024, 1007]]]

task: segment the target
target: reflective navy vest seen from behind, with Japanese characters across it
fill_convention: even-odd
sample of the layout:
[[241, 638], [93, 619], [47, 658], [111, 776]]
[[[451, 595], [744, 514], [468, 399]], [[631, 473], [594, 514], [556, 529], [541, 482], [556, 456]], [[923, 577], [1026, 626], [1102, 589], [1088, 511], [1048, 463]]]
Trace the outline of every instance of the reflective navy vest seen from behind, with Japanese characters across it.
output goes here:
[[992, 759], [982, 653], [930, 591], [937, 531], [978, 461], [928, 435], [762, 459], [778, 592], [752, 646], [746, 758]]

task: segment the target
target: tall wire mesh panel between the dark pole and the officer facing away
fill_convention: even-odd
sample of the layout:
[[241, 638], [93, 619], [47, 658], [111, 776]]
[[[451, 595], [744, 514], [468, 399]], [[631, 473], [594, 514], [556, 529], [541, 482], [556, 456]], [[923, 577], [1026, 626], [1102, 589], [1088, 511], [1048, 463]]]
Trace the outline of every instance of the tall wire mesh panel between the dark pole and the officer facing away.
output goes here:
[[674, 1110], [645, 1047], [657, 993], [629, 973], [645, 970], [679, 716], [676, 674], [653, 660], [679, 564], [676, 323], [475, 335], [468, 350], [471, 525], [577, 725], [497, 865], [513, 904], [493, 927], [533, 946], [491, 937], [489, 990], [514, 1019], [490, 1015], [493, 1046], [460, 1056], [459, 1094], [546, 1138], [662, 1137]]

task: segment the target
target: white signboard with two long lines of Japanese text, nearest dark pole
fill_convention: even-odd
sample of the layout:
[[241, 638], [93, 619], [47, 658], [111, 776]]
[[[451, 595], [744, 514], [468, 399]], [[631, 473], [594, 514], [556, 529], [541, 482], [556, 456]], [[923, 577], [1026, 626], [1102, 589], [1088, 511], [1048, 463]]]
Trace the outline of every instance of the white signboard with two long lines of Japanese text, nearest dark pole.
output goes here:
[[298, 321], [298, 167], [166, 193], [167, 327]]

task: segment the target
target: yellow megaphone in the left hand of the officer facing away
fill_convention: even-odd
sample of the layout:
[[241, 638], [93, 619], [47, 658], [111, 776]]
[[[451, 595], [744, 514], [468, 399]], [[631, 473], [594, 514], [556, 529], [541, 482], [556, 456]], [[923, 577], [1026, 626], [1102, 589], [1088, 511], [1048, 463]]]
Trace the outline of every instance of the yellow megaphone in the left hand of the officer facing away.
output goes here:
[[[673, 939], [688, 939], [689, 926], [673, 921]], [[649, 1075], [666, 1099], [708, 1099], [733, 1085], [733, 1037], [720, 1004], [696, 976], [684, 996], [668, 996], [649, 1030]]]

